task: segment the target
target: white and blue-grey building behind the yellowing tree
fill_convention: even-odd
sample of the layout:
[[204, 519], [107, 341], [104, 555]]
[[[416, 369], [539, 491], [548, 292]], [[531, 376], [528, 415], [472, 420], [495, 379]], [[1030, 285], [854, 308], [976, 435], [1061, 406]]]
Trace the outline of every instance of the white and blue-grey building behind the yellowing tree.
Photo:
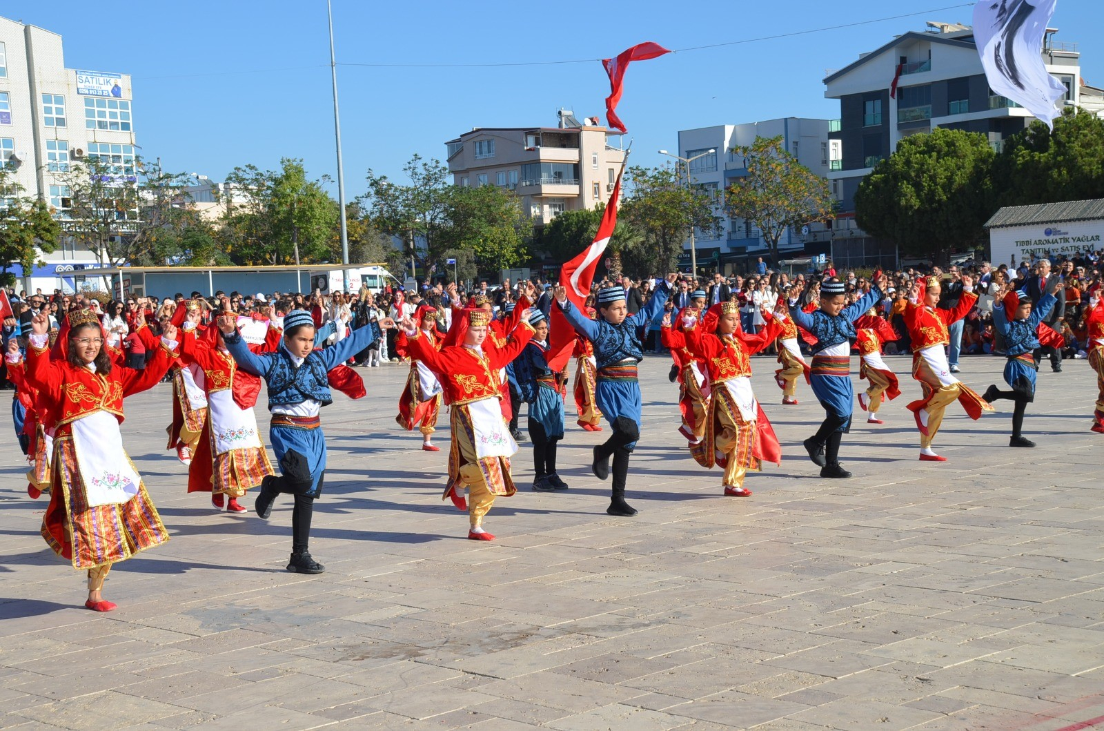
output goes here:
[[[743, 125], [716, 125], [699, 129], [679, 131], [679, 157], [690, 159], [698, 155], [703, 157], [690, 163], [690, 182], [693, 186], [709, 190], [716, 199], [716, 214], [724, 218], [724, 227], [718, 237], [710, 232], [696, 232], [696, 248], [698, 266], [722, 272], [743, 272], [747, 264], [757, 256], [766, 258], [766, 244], [762, 232], [750, 221], [730, 219], [724, 212], [724, 189], [739, 178], [747, 176], [742, 156], [732, 152], [734, 147], [750, 146], [756, 137], [782, 137], [783, 145], [797, 161], [813, 172], [828, 176], [832, 160], [839, 160], [841, 151], [828, 139], [827, 119], [769, 119]], [[715, 152], [708, 153], [708, 150]], [[686, 173], [686, 163], [682, 166]], [[805, 248], [808, 240], [819, 233], [820, 225], [811, 226], [816, 231], [803, 234], [800, 231], [787, 231], [778, 242], [779, 254], [796, 253]], [[682, 264], [689, 265], [690, 242], [687, 240], [687, 254]]]

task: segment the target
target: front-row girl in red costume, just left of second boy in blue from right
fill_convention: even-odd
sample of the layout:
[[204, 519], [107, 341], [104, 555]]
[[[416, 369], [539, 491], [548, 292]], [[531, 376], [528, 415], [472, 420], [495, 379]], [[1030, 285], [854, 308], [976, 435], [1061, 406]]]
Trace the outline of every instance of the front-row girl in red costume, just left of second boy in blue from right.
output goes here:
[[690, 452], [702, 467], [715, 464], [724, 470], [730, 497], [752, 494], [744, 477], [747, 470], [758, 472], [763, 459], [782, 464], [778, 439], [752, 393], [751, 356], [769, 348], [782, 329], [768, 311], [763, 318], [762, 330], [744, 332], [740, 304], [728, 301], [710, 307], [700, 324], [693, 315], [682, 320], [687, 348], [705, 363], [712, 392], [704, 438]]

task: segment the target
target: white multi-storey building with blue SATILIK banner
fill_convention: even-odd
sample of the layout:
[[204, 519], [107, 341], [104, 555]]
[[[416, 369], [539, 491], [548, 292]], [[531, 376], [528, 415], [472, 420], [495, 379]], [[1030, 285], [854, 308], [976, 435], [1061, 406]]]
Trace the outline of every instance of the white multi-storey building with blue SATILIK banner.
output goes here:
[[[57, 173], [73, 160], [98, 156], [117, 174], [136, 174], [131, 99], [129, 75], [66, 68], [60, 35], [0, 18], [0, 162], [59, 219], [70, 201]], [[82, 274], [98, 266], [95, 253], [71, 241], [41, 258], [17, 289], [103, 286]]]

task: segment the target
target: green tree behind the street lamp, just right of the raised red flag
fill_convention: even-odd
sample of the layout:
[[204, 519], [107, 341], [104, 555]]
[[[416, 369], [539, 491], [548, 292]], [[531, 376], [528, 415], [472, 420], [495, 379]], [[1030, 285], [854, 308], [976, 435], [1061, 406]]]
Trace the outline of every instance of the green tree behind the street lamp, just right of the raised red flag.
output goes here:
[[713, 199], [701, 188], [683, 184], [675, 168], [633, 167], [628, 172], [631, 191], [619, 213], [643, 232], [644, 241], [620, 252], [626, 274], [672, 272], [691, 226], [708, 235], [720, 232]]

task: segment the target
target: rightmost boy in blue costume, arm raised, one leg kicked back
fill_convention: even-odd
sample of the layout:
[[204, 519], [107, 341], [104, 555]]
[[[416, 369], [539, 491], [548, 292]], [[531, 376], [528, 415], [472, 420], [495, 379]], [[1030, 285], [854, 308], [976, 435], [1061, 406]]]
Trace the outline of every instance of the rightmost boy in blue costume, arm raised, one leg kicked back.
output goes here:
[[1005, 363], [1005, 382], [1011, 391], [999, 391], [990, 385], [983, 396], [989, 403], [997, 399], [1008, 399], [1012, 409], [1012, 438], [1010, 447], [1033, 447], [1034, 442], [1025, 438], [1023, 414], [1028, 404], [1034, 401], [1036, 378], [1039, 366], [1032, 353], [1039, 348], [1039, 324], [1053, 309], [1058, 299], [1054, 294], [1065, 286], [1061, 277], [1053, 277], [1039, 305], [1031, 307], [1031, 297], [1026, 292], [1009, 292], [1004, 299], [998, 298], [992, 306], [992, 327], [1005, 339], [1008, 362]]

